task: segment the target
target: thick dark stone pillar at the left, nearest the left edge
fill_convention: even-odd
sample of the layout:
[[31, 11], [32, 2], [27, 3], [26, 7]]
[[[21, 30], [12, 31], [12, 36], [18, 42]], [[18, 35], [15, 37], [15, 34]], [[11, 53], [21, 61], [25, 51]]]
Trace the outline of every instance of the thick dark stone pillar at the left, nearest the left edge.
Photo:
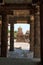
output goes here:
[[1, 57], [7, 57], [7, 44], [8, 44], [8, 22], [7, 15], [2, 14], [2, 28], [1, 28]]

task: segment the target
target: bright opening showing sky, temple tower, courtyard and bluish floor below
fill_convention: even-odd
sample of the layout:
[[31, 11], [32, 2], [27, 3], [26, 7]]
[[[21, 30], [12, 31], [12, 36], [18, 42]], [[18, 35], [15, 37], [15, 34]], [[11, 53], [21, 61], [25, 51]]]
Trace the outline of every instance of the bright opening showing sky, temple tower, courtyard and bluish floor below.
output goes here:
[[14, 24], [15, 57], [28, 58], [30, 51], [30, 24]]

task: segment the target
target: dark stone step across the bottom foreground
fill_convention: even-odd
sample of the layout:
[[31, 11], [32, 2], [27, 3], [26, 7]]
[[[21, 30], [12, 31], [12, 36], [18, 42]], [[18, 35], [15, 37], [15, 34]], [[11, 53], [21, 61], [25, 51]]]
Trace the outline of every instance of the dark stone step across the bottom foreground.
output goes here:
[[31, 59], [0, 58], [0, 65], [39, 65], [39, 62]]

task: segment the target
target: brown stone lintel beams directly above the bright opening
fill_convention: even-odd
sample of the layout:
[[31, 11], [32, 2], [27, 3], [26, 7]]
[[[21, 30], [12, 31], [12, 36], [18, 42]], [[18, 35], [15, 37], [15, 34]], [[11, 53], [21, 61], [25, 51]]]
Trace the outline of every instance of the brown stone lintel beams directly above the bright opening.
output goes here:
[[[28, 10], [15, 10], [15, 12], [16, 12], [16, 11], [26, 12], [26, 11], [28, 11]], [[20, 12], [20, 14], [21, 14], [21, 12]], [[29, 13], [29, 12], [28, 12], [28, 13]], [[28, 22], [28, 17], [29, 17], [28, 14], [24, 14], [24, 13], [22, 13], [22, 15], [20, 15], [20, 14], [17, 15], [17, 12], [16, 12], [16, 14], [13, 15], [13, 16], [9, 15], [9, 17], [8, 17], [9, 20], [8, 20], [8, 21], [10, 22], [10, 24], [11, 24], [12, 22], [13, 22], [13, 25], [14, 25], [15, 23], [17, 23], [17, 24], [18, 24], [18, 23], [27, 24], [27, 22]], [[25, 16], [24, 16], [23, 14], [24, 14]], [[27, 17], [27, 16], [28, 16], [28, 17]], [[30, 22], [30, 20], [29, 20], [29, 22]]]

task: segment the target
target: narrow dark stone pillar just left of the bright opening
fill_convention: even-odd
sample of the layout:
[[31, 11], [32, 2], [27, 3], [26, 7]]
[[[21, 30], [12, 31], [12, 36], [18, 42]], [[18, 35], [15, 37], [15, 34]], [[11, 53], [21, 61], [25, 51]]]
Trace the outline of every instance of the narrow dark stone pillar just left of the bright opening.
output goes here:
[[14, 24], [11, 23], [10, 28], [10, 51], [14, 51]]

